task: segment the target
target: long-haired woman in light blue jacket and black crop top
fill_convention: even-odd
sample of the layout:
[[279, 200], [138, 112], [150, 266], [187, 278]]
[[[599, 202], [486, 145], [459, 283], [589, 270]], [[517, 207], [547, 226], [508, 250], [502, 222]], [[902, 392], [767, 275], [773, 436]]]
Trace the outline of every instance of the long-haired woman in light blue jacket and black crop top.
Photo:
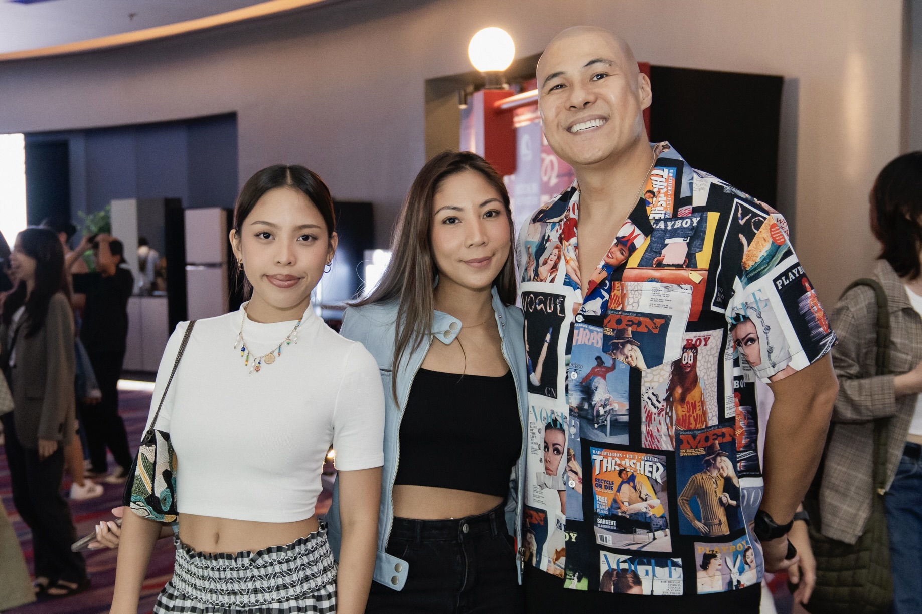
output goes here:
[[[513, 241], [499, 174], [445, 152], [410, 189], [380, 286], [343, 319], [341, 334], [378, 360], [386, 397], [368, 613], [523, 611], [527, 376]], [[336, 552], [337, 490], [326, 519]]]

